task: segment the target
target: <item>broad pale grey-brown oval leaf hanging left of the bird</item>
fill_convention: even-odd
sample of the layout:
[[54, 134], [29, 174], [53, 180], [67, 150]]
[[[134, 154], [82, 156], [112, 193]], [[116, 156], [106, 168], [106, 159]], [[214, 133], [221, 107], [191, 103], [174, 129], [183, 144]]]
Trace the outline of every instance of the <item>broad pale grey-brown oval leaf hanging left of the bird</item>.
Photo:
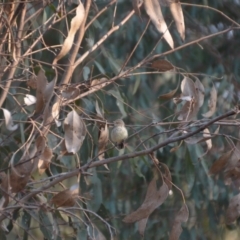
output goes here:
[[82, 118], [73, 110], [64, 120], [64, 139], [66, 149], [70, 153], [76, 153], [82, 146], [86, 136], [86, 126]]

